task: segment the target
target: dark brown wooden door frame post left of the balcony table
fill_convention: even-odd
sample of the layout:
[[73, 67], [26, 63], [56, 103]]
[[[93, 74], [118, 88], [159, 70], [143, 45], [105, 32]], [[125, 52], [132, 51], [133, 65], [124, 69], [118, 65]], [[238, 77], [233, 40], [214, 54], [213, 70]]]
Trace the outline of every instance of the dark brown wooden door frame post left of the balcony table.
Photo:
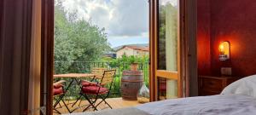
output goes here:
[[[46, 114], [53, 108], [53, 69], [54, 69], [54, 0], [42, 1], [42, 54], [41, 54], [41, 101], [46, 105]], [[46, 99], [44, 98], [46, 97]], [[44, 100], [45, 99], [45, 100]]]

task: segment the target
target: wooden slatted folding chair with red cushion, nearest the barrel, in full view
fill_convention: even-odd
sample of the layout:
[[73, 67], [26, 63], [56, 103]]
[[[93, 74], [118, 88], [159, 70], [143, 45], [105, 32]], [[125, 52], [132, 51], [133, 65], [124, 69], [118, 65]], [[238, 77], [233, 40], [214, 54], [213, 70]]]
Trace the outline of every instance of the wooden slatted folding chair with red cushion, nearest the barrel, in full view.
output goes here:
[[[108, 104], [106, 99], [110, 94], [112, 85], [113, 85], [113, 78], [115, 75], [116, 70], [108, 70], [103, 72], [102, 79], [100, 83], [93, 83], [93, 82], [84, 82], [82, 83], [81, 93], [80, 95], [84, 96], [84, 98], [89, 102], [89, 106], [85, 107], [83, 112], [86, 111], [90, 106], [93, 107], [94, 111], [97, 111], [97, 106], [99, 106], [102, 102], [105, 102], [111, 109], [112, 106]], [[92, 97], [92, 98], [90, 98]], [[93, 98], [95, 97], [95, 98]], [[98, 104], [96, 101], [98, 99], [102, 99]]]

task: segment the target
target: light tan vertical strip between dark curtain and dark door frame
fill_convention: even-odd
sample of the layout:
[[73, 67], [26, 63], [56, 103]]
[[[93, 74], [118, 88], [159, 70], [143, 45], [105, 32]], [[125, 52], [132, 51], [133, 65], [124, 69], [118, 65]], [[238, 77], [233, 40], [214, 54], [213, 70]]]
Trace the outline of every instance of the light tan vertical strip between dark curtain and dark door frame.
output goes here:
[[40, 113], [40, 70], [41, 70], [41, 0], [32, 5], [32, 40], [29, 75], [28, 110], [32, 115]]

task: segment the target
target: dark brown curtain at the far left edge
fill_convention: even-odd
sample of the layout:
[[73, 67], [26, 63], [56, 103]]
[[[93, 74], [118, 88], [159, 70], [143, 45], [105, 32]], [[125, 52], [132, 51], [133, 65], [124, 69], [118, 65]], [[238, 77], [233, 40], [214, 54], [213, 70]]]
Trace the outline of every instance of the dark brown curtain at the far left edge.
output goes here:
[[32, 0], [1, 0], [0, 110], [26, 114], [30, 75]]

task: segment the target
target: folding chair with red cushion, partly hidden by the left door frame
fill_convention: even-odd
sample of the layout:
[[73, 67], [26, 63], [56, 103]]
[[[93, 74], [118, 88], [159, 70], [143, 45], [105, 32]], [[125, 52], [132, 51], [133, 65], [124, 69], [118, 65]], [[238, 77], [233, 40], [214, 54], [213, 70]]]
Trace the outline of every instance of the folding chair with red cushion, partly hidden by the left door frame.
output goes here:
[[54, 95], [54, 100], [55, 100], [55, 104], [53, 106], [53, 110], [55, 113], [61, 114], [60, 111], [57, 110], [57, 106], [59, 105], [61, 107], [61, 101], [64, 103], [64, 106], [66, 106], [68, 112], [70, 112], [70, 110], [67, 107], [67, 104], [65, 103], [65, 101], [63, 101], [63, 97], [66, 93], [65, 89], [64, 89], [64, 85], [63, 83], [65, 83], [65, 80], [61, 80], [58, 81], [56, 83], [53, 84], [53, 95]]

